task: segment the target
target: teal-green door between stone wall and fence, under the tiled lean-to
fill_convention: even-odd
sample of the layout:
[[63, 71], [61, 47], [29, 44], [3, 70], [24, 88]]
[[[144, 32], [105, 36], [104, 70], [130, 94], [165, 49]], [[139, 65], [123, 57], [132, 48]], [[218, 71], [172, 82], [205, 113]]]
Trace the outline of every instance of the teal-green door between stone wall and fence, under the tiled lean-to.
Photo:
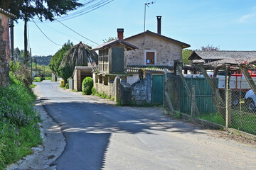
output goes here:
[[152, 76], [152, 104], [164, 103], [164, 75]]

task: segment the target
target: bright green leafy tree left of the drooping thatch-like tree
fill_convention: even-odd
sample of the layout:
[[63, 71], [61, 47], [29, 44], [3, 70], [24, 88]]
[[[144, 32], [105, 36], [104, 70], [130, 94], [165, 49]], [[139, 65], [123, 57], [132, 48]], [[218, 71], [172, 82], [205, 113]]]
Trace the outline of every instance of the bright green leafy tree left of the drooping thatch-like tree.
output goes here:
[[68, 42], [66, 42], [63, 45], [63, 47], [60, 50], [58, 50], [58, 52], [56, 52], [55, 55], [53, 55], [53, 57], [51, 57], [50, 59], [49, 67], [58, 76], [61, 76], [59, 72], [60, 63], [63, 60], [63, 57], [65, 56], [66, 52], [68, 52], [68, 50], [70, 50], [71, 47], [73, 47], [73, 42], [70, 42], [70, 40], [68, 40]]

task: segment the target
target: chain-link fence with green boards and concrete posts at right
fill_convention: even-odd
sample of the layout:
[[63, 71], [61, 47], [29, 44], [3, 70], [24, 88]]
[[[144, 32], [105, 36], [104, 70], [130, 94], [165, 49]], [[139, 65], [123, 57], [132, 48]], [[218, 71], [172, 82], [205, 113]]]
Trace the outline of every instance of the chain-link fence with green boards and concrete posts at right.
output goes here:
[[167, 111], [256, 135], [256, 95], [242, 75], [217, 76], [212, 86], [202, 75], [169, 75], [164, 90]]

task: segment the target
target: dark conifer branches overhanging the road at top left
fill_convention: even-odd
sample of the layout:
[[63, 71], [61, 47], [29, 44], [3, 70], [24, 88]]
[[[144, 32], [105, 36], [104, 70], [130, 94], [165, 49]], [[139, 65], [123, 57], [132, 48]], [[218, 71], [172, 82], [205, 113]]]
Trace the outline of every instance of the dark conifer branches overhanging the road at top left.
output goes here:
[[16, 15], [16, 19], [29, 21], [29, 18], [38, 18], [43, 21], [53, 21], [55, 16], [66, 15], [68, 11], [82, 6], [78, 0], [5, 0], [0, 1], [0, 8]]

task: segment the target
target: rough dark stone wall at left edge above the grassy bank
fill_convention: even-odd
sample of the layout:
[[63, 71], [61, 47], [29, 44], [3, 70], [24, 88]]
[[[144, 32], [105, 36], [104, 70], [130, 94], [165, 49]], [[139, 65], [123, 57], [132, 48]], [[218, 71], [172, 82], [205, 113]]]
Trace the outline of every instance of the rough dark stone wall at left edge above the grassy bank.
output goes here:
[[[1, 23], [1, 17], [0, 17]], [[9, 64], [6, 61], [6, 42], [3, 40], [4, 27], [0, 24], [0, 86], [9, 85]]]

